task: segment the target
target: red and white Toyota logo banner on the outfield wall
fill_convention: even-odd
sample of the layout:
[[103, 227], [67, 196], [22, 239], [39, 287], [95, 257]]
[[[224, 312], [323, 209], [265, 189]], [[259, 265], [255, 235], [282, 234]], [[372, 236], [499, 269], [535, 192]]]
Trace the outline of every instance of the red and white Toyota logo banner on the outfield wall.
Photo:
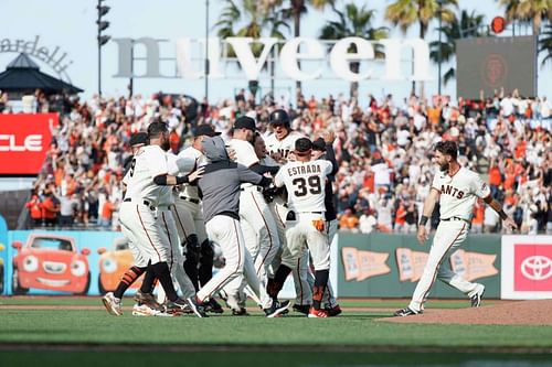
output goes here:
[[552, 236], [503, 236], [501, 267], [502, 299], [552, 299]]

